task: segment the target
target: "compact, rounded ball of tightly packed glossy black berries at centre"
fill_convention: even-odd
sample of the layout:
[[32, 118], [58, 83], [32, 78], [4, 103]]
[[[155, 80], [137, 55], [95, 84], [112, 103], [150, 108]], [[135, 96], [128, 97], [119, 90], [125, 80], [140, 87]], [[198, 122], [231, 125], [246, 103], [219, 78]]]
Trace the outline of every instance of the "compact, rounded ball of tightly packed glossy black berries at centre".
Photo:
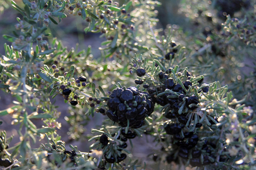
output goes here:
[[147, 92], [139, 91], [135, 87], [116, 88], [109, 95], [106, 115], [122, 127], [137, 129], [144, 124], [145, 116], [154, 111], [154, 103]]

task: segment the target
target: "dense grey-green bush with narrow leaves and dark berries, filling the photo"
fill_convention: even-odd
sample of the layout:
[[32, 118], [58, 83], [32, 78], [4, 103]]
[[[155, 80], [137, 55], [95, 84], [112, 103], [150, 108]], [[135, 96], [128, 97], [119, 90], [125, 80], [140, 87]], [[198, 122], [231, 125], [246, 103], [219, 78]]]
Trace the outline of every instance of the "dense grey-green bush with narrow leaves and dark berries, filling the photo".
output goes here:
[[[1, 122], [5, 170], [150, 169], [156, 163], [159, 169], [256, 169], [255, 66], [241, 69], [246, 59], [255, 62], [254, 0], [181, 1], [177, 15], [186, 24], [166, 29], [156, 29], [157, 1], [8, 3], [21, 17], [3, 35], [12, 44], [4, 44], [0, 58], [0, 88], [14, 101], [0, 115], [19, 125], [20, 141], [9, 146], [13, 136]], [[105, 37], [100, 57], [90, 46], [79, 51], [52, 38], [49, 27], [70, 15], [86, 22], [86, 33]], [[95, 114], [104, 118], [92, 129], [91, 150], [66, 149], [58, 135], [54, 99], [60, 95], [70, 105], [65, 119], [72, 139], [84, 141], [84, 125]], [[126, 149], [144, 136], [156, 145], [148, 153], [152, 165]], [[39, 139], [47, 142], [33, 148]]]

